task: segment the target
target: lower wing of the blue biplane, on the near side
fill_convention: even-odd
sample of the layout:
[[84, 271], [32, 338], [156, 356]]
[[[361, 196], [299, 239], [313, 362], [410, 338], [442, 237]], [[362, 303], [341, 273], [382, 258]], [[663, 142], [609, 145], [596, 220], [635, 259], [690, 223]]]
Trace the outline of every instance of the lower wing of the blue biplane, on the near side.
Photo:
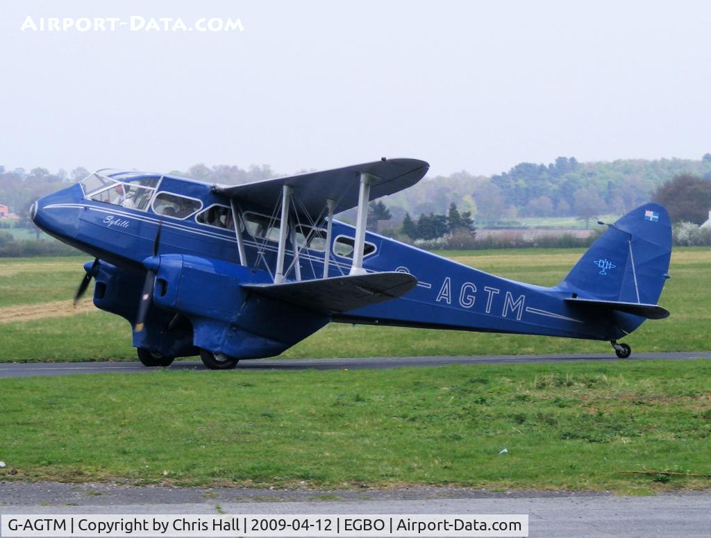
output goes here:
[[279, 301], [334, 314], [390, 301], [407, 294], [416, 284], [417, 279], [411, 274], [387, 272], [284, 284], [242, 284], [242, 288]]

